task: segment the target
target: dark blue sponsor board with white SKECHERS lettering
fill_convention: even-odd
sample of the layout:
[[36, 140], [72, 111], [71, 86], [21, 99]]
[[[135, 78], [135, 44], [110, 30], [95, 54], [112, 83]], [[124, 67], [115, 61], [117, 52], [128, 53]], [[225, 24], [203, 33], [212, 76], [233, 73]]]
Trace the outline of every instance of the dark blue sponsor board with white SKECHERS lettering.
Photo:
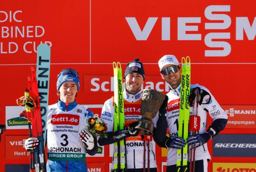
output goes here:
[[213, 139], [213, 157], [255, 157], [256, 135], [220, 134]]

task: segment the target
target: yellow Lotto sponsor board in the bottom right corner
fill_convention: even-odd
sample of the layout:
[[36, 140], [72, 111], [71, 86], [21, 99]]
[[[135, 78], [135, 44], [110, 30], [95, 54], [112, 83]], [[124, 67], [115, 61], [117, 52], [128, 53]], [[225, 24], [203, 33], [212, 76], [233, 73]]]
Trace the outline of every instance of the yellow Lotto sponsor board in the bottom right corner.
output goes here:
[[256, 163], [225, 163], [213, 162], [214, 172], [256, 172]]

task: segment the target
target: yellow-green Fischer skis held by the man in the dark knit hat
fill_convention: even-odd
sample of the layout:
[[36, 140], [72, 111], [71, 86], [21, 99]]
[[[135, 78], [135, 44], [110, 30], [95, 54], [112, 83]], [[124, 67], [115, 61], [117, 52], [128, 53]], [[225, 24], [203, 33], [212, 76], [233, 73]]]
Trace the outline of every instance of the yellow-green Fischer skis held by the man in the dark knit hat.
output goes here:
[[[122, 69], [119, 62], [113, 62], [114, 70], [114, 131], [125, 129]], [[127, 169], [125, 139], [114, 143], [114, 168], [116, 172]]]

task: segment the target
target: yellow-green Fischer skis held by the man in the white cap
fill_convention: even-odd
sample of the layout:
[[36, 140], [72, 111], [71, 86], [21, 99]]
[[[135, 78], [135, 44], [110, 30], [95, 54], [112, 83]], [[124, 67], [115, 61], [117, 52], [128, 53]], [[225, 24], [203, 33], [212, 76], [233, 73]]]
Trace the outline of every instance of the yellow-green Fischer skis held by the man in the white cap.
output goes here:
[[[184, 140], [189, 135], [190, 57], [182, 57], [180, 117], [178, 136]], [[177, 150], [177, 172], [188, 171], [188, 146]]]

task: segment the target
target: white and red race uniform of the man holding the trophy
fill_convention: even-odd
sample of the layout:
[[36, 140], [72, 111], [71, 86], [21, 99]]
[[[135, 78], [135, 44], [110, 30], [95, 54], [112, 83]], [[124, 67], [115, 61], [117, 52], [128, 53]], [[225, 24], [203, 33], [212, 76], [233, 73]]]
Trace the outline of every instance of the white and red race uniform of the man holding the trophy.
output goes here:
[[[140, 90], [137, 94], [131, 95], [124, 90], [124, 109], [125, 109], [125, 127], [129, 126], [131, 122], [137, 121], [141, 118], [140, 105], [141, 105], [141, 92]], [[144, 141], [142, 136], [139, 134], [136, 137], [129, 137], [127, 133], [118, 131], [112, 132], [114, 128], [114, 104], [113, 98], [108, 99], [102, 108], [101, 119], [107, 123], [108, 127], [108, 138], [100, 138], [98, 140], [99, 145], [112, 144], [119, 140], [126, 139], [126, 155], [127, 155], [127, 168], [128, 169], [143, 169], [144, 165]], [[156, 122], [158, 120], [158, 113], [156, 117], [152, 119], [154, 127], [156, 127]], [[154, 129], [155, 130], [155, 129]], [[166, 129], [165, 129], [166, 131]], [[114, 138], [113, 138], [114, 137]], [[148, 143], [148, 142], [147, 142]], [[148, 145], [146, 145], [146, 148]], [[151, 168], [157, 168], [156, 165], [156, 155], [153, 150], [152, 142], [149, 141], [149, 165]], [[146, 154], [148, 153], [146, 149]], [[146, 161], [146, 167], [147, 165]], [[112, 162], [111, 169], [114, 169], [114, 162]]]

